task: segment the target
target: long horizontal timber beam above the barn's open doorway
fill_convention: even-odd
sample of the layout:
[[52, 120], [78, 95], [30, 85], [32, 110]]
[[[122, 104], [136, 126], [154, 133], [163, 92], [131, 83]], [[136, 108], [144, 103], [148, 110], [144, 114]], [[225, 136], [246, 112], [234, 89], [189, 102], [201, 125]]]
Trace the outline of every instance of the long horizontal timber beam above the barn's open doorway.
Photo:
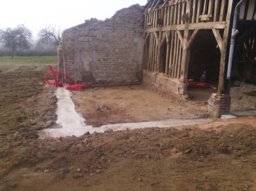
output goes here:
[[[187, 25], [171, 25], [171, 26], [163, 26], [158, 28], [152, 29], [145, 29], [145, 33], [153, 33], [161, 31], [168, 31], [168, 30], [185, 30]], [[225, 29], [226, 22], [199, 22], [199, 23], [191, 23], [188, 25], [189, 30], [196, 30], [196, 29]]]

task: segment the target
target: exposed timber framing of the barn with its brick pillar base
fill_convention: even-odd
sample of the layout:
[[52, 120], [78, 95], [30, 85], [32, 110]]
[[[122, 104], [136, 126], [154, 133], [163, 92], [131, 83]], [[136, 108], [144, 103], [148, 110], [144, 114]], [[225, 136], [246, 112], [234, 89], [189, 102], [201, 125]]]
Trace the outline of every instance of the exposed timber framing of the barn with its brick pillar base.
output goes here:
[[[210, 32], [215, 37], [220, 59], [218, 93], [210, 98], [208, 108], [216, 117], [228, 113], [230, 96], [225, 95], [225, 76], [233, 11], [237, 3], [238, 0], [149, 0], [144, 12], [143, 80], [187, 95], [192, 44], [197, 36], [207, 38], [203, 33], [200, 36], [200, 31]], [[245, 55], [248, 55], [246, 51], [250, 51], [250, 55], [252, 52], [251, 61], [254, 65], [255, 7], [255, 0], [247, 0], [242, 4], [238, 21], [242, 41], [236, 39], [241, 41], [237, 50], [242, 47]], [[250, 49], [242, 46], [245, 41]], [[223, 103], [222, 106], [219, 103]]]

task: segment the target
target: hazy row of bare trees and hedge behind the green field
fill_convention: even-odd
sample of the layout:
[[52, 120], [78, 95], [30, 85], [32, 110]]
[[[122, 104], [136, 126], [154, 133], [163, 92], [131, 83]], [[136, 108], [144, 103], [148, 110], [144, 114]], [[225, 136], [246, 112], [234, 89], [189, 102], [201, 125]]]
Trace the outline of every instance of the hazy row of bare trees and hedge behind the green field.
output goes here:
[[0, 29], [0, 56], [53, 56], [57, 55], [61, 31], [46, 26], [32, 39], [31, 30], [24, 25]]

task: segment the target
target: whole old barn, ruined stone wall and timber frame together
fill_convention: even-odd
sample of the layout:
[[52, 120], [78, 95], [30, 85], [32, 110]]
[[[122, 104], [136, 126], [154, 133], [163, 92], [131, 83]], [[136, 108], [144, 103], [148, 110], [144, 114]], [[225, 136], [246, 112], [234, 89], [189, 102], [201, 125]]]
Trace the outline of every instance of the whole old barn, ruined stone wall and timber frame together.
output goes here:
[[[218, 92], [208, 101], [215, 116], [229, 113], [226, 87], [229, 41], [238, 0], [148, 0], [66, 29], [59, 70], [96, 86], [153, 84], [187, 97], [187, 79], [206, 71]], [[233, 79], [256, 83], [256, 0], [240, 7]]]

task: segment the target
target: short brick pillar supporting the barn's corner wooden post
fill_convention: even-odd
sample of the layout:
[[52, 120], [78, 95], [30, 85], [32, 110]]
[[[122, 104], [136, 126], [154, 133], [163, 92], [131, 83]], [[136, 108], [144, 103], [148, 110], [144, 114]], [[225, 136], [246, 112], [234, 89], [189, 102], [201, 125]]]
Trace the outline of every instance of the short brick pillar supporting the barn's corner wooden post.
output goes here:
[[218, 95], [214, 93], [208, 100], [208, 111], [214, 118], [220, 118], [221, 115], [229, 114], [230, 104], [230, 95]]

